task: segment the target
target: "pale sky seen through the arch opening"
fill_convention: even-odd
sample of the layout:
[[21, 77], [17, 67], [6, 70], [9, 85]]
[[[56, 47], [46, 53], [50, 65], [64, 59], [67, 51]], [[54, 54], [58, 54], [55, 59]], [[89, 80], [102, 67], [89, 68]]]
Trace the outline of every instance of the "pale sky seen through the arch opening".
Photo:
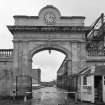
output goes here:
[[56, 50], [51, 50], [49, 54], [48, 50], [41, 51], [33, 56], [32, 68], [41, 69], [41, 81], [52, 81], [57, 77], [57, 70], [60, 68], [65, 54]]

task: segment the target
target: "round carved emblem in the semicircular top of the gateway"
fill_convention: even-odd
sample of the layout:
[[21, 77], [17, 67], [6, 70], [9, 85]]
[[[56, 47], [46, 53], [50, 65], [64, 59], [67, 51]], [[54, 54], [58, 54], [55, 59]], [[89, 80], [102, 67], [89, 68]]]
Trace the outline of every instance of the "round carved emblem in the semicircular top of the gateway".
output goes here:
[[56, 17], [55, 17], [55, 15], [54, 14], [52, 14], [52, 13], [47, 13], [45, 16], [44, 16], [44, 18], [45, 18], [45, 23], [47, 23], [47, 24], [49, 24], [49, 25], [51, 25], [51, 24], [54, 24], [56, 21]]

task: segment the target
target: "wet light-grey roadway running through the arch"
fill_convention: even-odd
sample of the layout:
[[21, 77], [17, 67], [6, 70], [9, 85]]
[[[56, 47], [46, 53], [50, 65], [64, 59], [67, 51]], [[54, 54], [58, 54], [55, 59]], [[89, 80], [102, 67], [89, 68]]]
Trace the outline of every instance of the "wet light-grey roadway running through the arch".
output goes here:
[[58, 105], [67, 103], [67, 93], [55, 87], [45, 87], [33, 91], [32, 105]]

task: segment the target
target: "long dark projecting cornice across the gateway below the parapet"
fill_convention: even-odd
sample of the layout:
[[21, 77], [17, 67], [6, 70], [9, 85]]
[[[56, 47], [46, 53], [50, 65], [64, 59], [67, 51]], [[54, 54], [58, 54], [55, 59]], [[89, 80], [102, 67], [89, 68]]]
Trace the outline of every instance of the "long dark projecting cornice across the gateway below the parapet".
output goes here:
[[86, 26], [7, 26], [12, 34], [15, 32], [87, 32]]

